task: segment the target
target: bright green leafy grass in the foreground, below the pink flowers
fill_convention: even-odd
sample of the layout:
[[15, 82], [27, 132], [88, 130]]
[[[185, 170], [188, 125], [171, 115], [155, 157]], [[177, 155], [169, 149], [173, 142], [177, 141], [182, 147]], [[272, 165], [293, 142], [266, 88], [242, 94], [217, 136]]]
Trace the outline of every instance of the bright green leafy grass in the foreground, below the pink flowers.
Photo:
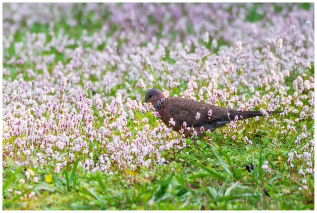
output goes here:
[[[217, 133], [216, 133], [217, 134]], [[219, 134], [219, 133], [218, 133]], [[252, 138], [252, 137], [251, 137]], [[3, 171], [4, 209], [43, 210], [259, 210], [314, 209], [314, 197], [298, 190], [296, 180], [288, 177], [283, 159], [287, 152], [277, 152], [267, 138], [252, 138], [258, 147], [244, 142], [223, 140], [210, 144], [198, 142], [185, 149], [170, 164], [154, 171], [107, 175], [86, 173], [82, 168], [63, 170], [59, 175], [46, 170], [28, 168], [40, 177], [30, 182], [37, 200], [19, 200], [5, 189], [19, 187], [20, 170], [7, 167]], [[282, 146], [286, 141], [280, 141]], [[218, 147], [218, 148], [217, 148]], [[262, 148], [261, 148], [262, 147]], [[187, 154], [188, 152], [188, 154]], [[166, 157], [168, 157], [167, 155]], [[270, 160], [274, 174], [261, 169]], [[183, 161], [182, 161], [183, 160]], [[254, 164], [251, 172], [244, 165]], [[14, 174], [13, 174], [14, 173]], [[46, 177], [53, 177], [46, 180]], [[149, 178], [145, 178], [149, 174]], [[313, 183], [312, 183], [313, 184]], [[20, 186], [22, 187], [22, 186]], [[313, 187], [313, 185], [312, 185]]]

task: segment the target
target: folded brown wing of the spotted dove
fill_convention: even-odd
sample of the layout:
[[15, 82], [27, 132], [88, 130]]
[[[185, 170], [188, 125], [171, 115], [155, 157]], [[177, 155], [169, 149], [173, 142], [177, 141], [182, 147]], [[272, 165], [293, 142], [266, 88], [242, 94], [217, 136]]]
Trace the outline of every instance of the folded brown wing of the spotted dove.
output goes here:
[[[172, 97], [166, 103], [166, 113], [180, 125], [186, 122], [188, 127], [204, 126], [212, 121], [227, 115], [227, 109], [201, 103], [198, 101]], [[208, 111], [212, 110], [211, 119], [208, 118]], [[196, 115], [199, 112], [200, 118], [197, 120]]]

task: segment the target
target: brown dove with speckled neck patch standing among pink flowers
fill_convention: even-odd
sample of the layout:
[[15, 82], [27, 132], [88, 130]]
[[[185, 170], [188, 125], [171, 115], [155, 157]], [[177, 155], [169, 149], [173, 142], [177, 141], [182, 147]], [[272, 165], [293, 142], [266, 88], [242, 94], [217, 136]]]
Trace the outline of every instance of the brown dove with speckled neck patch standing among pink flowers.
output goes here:
[[[168, 127], [171, 119], [175, 122], [173, 130], [180, 132], [183, 129], [186, 137], [192, 136], [194, 130], [198, 138], [206, 136], [206, 131], [215, 130], [230, 123], [238, 116], [238, 120], [263, 116], [260, 111], [238, 111], [219, 106], [202, 103], [199, 101], [180, 98], [165, 97], [157, 88], [149, 89], [145, 94], [145, 103], [152, 103], [159, 113], [160, 120]], [[200, 116], [198, 116], [198, 114]], [[268, 114], [282, 113], [280, 111], [267, 111]], [[184, 122], [186, 124], [184, 124]], [[186, 125], [187, 128], [184, 128]], [[189, 127], [189, 129], [188, 129]], [[202, 131], [202, 127], [205, 131]]]

